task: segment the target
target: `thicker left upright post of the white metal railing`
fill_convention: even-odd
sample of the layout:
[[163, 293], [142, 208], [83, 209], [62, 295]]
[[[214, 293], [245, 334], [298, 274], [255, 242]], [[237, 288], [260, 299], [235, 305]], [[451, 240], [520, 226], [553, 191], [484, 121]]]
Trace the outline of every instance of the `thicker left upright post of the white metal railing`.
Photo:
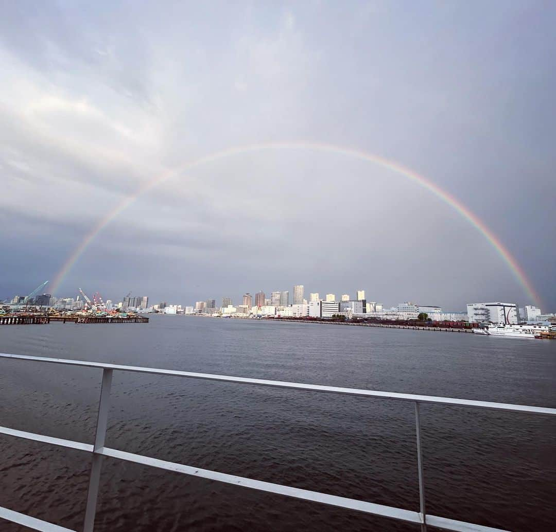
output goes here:
[[95, 446], [91, 463], [91, 474], [89, 476], [89, 490], [87, 493], [87, 509], [85, 510], [85, 524], [83, 532], [93, 532], [95, 526], [95, 514], [97, 511], [98, 483], [101, 478], [103, 456], [97, 451], [102, 449], [106, 438], [106, 425], [108, 422], [108, 409], [110, 407], [110, 388], [112, 387], [112, 370], [102, 370], [101, 397], [98, 402], [97, 430], [95, 435]]

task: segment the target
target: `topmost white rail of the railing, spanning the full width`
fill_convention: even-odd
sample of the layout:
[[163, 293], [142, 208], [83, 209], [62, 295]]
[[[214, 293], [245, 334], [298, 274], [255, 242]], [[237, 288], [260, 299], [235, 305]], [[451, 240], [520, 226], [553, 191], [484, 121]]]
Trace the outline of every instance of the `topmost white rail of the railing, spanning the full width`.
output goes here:
[[272, 381], [264, 379], [249, 379], [247, 377], [232, 377], [229, 375], [212, 375], [207, 373], [194, 373], [190, 371], [163, 370], [153, 367], [123, 366], [119, 364], [105, 364], [104, 362], [89, 362], [85, 360], [54, 359], [43, 356], [11, 355], [0, 353], [0, 357], [16, 360], [32, 360], [36, 362], [51, 362], [53, 364], [66, 364], [69, 366], [96, 367], [99, 369], [111, 369], [118, 371], [131, 371], [147, 373], [151, 375], [168, 375], [175, 377], [187, 377], [189, 379], [202, 379], [220, 382], [235, 382], [237, 384], [254, 384], [259, 386], [272, 386], [305, 391], [320, 391], [332, 394], [346, 394], [364, 397], [379, 397], [380, 399], [394, 399], [399, 401], [418, 401], [429, 404], [440, 404], [448, 406], [465, 406], [471, 408], [484, 408], [489, 410], [504, 410], [510, 412], [523, 412], [525, 414], [544, 414], [556, 416], [556, 408], [543, 406], [513, 405], [502, 402], [475, 401], [471, 399], [453, 399], [451, 397], [436, 397], [433, 395], [398, 394], [396, 392], [361, 390], [357, 388], [343, 388], [338, 386], [322, 386], [317, 384], [302, 384], [300, 382]]

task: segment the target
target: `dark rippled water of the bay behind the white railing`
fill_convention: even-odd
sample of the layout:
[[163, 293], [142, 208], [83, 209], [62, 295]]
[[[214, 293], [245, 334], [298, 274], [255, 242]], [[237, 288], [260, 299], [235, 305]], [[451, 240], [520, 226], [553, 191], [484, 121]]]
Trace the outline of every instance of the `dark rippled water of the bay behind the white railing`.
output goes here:
[[[556, 407], [556, 342], [155, 316], [0, 351]], [[93, 441], [100, 370], [0, 359], [0, 425]], [[431, 514], [556, 530], [556, 420], [422, 406]], [[418, 511], [413, 405], [116, 372], [107, 446]], [[80, 530], [90, 455], [0, 435], [0, 506]], [[0, 521], [0, 530], [21, 530]], [[96, 530], [418, 530], [106, 459]]]

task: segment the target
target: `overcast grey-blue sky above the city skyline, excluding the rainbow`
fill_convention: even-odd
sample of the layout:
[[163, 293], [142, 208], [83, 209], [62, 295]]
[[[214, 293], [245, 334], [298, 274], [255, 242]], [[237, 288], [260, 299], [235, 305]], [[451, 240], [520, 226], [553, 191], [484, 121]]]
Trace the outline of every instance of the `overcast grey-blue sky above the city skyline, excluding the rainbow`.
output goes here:
[[[0, 2], [0, 300], [53, 280], [193, 304], [355, 294], [463, 310], [530, 297], [458, 198], [556, 311], [556, 3]], [[48, 290], [47, 290], [48, 291]]]

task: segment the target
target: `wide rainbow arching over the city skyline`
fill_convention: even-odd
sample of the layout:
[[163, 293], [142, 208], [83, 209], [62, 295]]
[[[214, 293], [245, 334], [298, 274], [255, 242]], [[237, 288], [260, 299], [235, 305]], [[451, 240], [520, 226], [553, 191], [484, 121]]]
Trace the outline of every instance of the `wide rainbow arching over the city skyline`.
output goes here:
[[61, 269], [56, 274], [56, 277], [54, 277], [54, 281], [51, 285], [52, 294], [54, 294], [58, 290], [59, 286], [64, 280], [64, 277], [66, 277], [68, 272], [73, 268], [73, 266], [75, 266], [75, 263], [91, 245], [93, 240], [95, 240], [95, 238], [110, 222], [112, 222], [112, 220], [120, 215], [122, 211], [125, 211], [126, 208], [129, 207], [133, 202], [135, 202], [138, 197], [150, 191], [152, 188], [161, 185], [161, 183], [171, 179], [172, 177], [176, 177], [181, 173], [187, 170], [191, 170], [192, 168], [195, 168], [197, 166], [206, 165], [208, 163], [218, 161], [226, 157], [243, 155], [245, 153], [259, 152], [264, 150], [311, 150], [317, 152], [336, 153], [338, 155], [344, 155], [346, 157], [353, 157], [362, 161], [375, 163], [376, 165], [379, 165], [383, 168], [388, 168], [388, 170], [398, 173], [399, 175], [407, 177], [409, 180], [418, 183], [418, 185], [432, 192], [440, 200], [453, 207], [463, 218], [465, 218], [465, 220], [471, 223], [471, 225], [473, 225], [476, 230], [478, 230], [481, 235], [486, 238], [490, 245], [492, 245], [492, 247], [498, 252], [500, 257], [502, 257], [504, 262], [507, 263], [515, 279], [524, 288], [528, 296], [532, 299], [533, 302], [535, 302], [535, 304], [540, 306], [540, 298], [535, 292], [532, 282], [527, 278], [527, 275], [525, 275], [525, 272], [519, 266], [517, 260], [515, 260], [515, 258], [503, 245], [503, 243], [500, 242], [497, 236], [495, 236], [494, 233], [490, 231], [489, 228], [486, 227], [486, 225], [481, 222], [481, 220], [479, 220], [479, 218], [473, 212], [469, 210], [469, 208], [463, 205], [463, 203], [461, 203], [460, 201], [456, 200], [456, 198], [449, 192], [446, 192], [438, 185], [435, 185], [435, 183], [429, 181], [427, 178], [419, 175], [413, 170], [400, 165], [398, 162], [388, 160], [384, 157], [375, 155], [374, 153], [368, 153], [364, 151], [354, 150], [353, 148], [346, 148], [342, 146], [316, 142], [266, 142], [232, 147], [226, 150], [211, 153], [210, 155], [204, 157], [197, 158], [196, 160], [190, 161], [175, 170], [162, 173], [160, 176], [154, 177], [152, 180], [147, 181], [146, 183], [138, 187], [137, 190], [130, 196], [124, 198], [121, 203], [113, 208], [112, 211], [108, 212], [105, 217], [101, 218], [101, 220], [96, 223], [91, 231], [87, 233], [85, 238], [83, 238], [80, 245], [78, 245], [75, 250], [71, 252], [71, 255], [69, 255], [66, 262], [63, 263]]

